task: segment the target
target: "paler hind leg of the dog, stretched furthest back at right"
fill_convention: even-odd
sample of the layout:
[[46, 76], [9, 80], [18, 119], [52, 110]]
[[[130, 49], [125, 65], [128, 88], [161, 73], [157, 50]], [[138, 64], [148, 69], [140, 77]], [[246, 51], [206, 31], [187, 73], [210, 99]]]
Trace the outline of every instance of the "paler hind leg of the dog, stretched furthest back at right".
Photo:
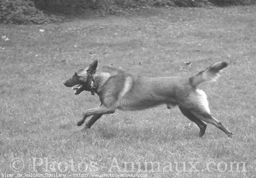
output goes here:
[[223, 123], [221, 123], [221, 121], [218, 121], [217, 119], [215, 119], [208, 112], [204, 112], [204, 111], [191, 111], [191, 112], [193, 115], [195, 115], [197, 118], [201, 119], [202, 121], [211, 123], [214, 126], [216, 126], [218, 129], [221, 129], [223, 132], [225, 132], [225, 134], [227, 134], [227, 136], [229, 136], [229, 137], [233, 136], [232, 132], [230, 132], [229, 129], [227, 129], [223, 125]]

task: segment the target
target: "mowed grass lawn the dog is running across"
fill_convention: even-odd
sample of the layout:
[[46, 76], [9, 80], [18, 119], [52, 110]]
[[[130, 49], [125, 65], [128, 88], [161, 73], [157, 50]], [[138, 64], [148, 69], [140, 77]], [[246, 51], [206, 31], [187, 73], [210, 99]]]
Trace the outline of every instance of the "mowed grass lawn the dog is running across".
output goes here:
[[[111, 169], [150, 178], [256, 176], [256, 6], [161, 8], [61, 24], [2, 24], [4, 35], [10, 40], [0, 39], [1, 173], [73, 177], [78, 172], [108, 174]], [[117, 111], [81, 133], [77, 121], [85, 109], [98, 106], [99, 98], [89, 92], [74, 95], [63, 81], [95, 59], [99, 66], [148, 77], [190, 77], [214, 62], [227, 61], [229, 67], [216, 83], [198, 88], [207, 93], [212, 115], [233, 138], [211, 124], [198, 138], [198, 126], [178, 108], [166, 106]], [[11, 169], [13, 158], [23, 160], [20, 172]], [[160, 167], [146, 169], [145, 161], [159, 162]], [[234, 161], [244, 162], [246, 172], [242, 166], [230, 171]], [[133, 162], [134, 170], [130, 166], [125, 172], [125, 162]], [[172, 163], [172, 171], [163, 171], [166, 162]], [[189, 162], [198, 163], [198, 171], [190, 169]], [[20, 162], [16, 164], [18, 168]]]

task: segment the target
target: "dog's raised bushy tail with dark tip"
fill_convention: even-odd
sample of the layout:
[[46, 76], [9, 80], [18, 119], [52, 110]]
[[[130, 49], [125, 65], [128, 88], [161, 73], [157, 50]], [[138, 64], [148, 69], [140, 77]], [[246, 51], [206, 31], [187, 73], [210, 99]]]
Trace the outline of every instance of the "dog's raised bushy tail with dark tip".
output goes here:
[[199, 72], [197, 75], [194, 75], [193, 77], [189, 78], [189, 83], [196, 87], [202, 82], [213, 82], [216, 81], [219, 77], [219, 72], [221, 69], [224, 69], [227, 67], [226, 62], [217, 62], [209, 66], [204, 71]]

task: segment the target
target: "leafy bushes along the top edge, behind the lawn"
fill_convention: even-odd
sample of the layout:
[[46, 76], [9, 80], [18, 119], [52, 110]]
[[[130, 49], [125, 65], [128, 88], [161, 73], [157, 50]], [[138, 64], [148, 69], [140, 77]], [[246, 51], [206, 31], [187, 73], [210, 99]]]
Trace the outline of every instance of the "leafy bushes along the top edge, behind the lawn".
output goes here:
[[62, 21], [62, 17], [44, 12], [60, 11], [63, 8], [75, 11], [96, 9], [113, 14], [150, 6], [201, 7], [255, 3], [256, 0], [0, 0], [0, 23], [41, 24]]

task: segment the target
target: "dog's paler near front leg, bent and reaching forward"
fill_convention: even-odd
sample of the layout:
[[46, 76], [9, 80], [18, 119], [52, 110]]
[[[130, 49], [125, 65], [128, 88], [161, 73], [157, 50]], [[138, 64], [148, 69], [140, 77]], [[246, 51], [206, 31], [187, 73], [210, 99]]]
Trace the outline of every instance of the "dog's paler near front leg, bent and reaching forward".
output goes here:
[[[83, 116], [82, 116], [82, 119], [81, 121], [79, 121], [77, 123], [78, 126], [81, 126], [85, 119], [90, 116], [90, 115], [104, 115], [104, 114], [111, 114], [111, 113], [114, 113], [116, 111], [116, 108], [115, 107], [111, 107], [111, 108], [108, 108], [104, 105], [102, 106], [99, 106], [97, 108], [93, 108], [93, 109], [88, 109], [86, 111], [84, 111], [83, 113]], [[100, 117], [99, 117], [100, 118]], [[97, 118], [98, 119], [98, 118]]]

